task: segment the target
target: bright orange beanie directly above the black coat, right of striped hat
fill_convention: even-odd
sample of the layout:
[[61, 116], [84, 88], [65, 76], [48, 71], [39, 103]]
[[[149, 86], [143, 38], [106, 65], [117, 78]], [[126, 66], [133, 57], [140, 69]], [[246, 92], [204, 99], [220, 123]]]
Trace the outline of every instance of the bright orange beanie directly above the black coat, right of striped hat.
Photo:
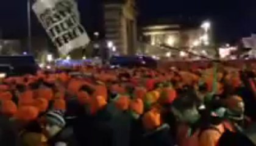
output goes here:
[[107, 105], [107, 101], [102, 96], [96, 96], [90, 99], [91, 114], [96, 114], [99, 109], [104, 108]]

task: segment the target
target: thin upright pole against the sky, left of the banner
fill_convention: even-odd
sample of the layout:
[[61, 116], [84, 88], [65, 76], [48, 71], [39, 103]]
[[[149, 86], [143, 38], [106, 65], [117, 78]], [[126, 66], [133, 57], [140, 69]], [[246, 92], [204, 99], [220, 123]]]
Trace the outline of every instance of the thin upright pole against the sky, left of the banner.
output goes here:
[[27, 50], [29, 54], [32, 54], [31, 51], [31, 7], [30, 7], [30, 0], [27, 0]]

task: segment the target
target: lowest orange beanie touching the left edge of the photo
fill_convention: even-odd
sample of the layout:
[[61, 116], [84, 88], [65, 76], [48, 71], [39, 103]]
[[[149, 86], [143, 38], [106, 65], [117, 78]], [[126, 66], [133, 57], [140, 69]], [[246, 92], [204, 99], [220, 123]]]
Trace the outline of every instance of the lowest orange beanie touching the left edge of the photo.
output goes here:
[[14, 116], [17, 112], [17, 106], [12, 100], [3, 100], [1, 102], [1, 112], [6, 116]]

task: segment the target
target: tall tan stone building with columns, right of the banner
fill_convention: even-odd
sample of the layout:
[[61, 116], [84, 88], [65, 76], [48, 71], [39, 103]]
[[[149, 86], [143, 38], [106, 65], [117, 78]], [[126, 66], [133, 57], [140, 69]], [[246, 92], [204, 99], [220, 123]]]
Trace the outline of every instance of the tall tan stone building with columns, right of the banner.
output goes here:
[[137, 44], [135, 0], [105, 0], [105, 38], [120, 55], [133, 55]]

